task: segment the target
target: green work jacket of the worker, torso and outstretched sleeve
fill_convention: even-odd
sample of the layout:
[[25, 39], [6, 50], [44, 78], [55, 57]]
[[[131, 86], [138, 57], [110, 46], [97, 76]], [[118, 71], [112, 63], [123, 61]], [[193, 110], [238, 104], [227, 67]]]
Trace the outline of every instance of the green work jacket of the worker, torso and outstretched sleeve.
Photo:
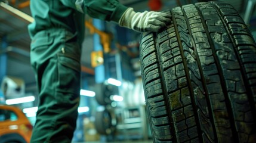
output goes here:
[[72, 33], [78, 32], [79, 42], [82, 42], [84, 14], [118, 23], [127, 7], [117, 0], [32, 0], [30, 10], [35, 19], [29, 25], [31, 37], [41, 30], [61, 27]]

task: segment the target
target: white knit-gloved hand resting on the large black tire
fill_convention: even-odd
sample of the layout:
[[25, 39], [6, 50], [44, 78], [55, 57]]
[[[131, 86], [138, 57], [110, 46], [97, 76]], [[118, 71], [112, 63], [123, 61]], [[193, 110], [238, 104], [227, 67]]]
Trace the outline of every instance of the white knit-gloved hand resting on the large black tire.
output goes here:
[[169, 23], [171, 23], [170, 14], [156, 11], [135, 13], [133, 8], [128, 8], [119, 20], [119, 26], [138, 32], [158, 32]]

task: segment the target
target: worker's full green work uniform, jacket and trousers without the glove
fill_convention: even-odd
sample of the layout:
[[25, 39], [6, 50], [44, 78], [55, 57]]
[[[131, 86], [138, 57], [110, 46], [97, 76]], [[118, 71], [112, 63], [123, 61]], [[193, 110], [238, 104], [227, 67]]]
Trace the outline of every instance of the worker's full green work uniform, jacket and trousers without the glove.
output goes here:
[[[31, 142], [71, 142], [78, 116], [85, 13], [116, 21], [127, 7], [117, 0], [32, 0], [30, 58], [39, 105]], [[89, 54], [89, 53], [88, 53]]]

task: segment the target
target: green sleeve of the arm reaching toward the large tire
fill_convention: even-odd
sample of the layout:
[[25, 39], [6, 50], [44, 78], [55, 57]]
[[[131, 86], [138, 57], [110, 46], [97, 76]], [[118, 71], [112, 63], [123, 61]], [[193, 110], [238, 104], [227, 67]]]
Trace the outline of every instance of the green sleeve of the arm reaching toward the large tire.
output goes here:
[[67, 7], [86, 13], [93, 18], [118, 22], [127, 7], [118, 0], [61, 0]]

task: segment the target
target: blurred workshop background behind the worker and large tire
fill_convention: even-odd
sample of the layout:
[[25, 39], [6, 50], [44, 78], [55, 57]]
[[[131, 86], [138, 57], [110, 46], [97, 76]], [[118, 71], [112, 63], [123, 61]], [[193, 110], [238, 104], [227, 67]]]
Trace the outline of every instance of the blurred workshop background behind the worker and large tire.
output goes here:
[[[135, 11], [164, 11], [203, 0], [119, 1]], [[255, 38], [256, 1], [224, 2], [235, 7]], [[30, 66], [30, 15], [29, 1], [0, 0], [0, 125], [6, 122], [5, 110], [10, 110], [9, 119], [19, 117], [5, 105], [20, 108], [30, 124], [35, 123], [38, 91]], [[140, 73], [141, 33], [85, 18], [81, 102], [73, 142], [152, 142]]]

